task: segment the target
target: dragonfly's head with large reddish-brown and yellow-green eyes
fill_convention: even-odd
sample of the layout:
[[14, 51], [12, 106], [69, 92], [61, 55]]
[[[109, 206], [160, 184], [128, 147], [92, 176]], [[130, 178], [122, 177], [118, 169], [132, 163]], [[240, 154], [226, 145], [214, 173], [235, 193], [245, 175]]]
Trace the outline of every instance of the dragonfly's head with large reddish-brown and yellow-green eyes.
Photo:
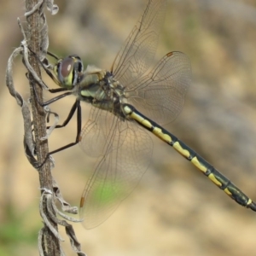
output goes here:
[[64, 59], [59, 59], [53, 68], [59, 85], [67, 89], [72, 89], [79, 84], [83, 71], [83, 62], [78, 55], [69, 55]]

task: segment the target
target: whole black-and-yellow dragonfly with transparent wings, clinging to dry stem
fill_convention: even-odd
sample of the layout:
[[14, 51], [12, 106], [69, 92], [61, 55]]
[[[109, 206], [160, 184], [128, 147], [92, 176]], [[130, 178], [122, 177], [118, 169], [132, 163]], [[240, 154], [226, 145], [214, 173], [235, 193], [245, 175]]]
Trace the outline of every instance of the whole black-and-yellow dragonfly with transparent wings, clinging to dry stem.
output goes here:
[[[256, 211], [256, 203], [241, 189], [163, 126], [181, 112], [192, 77], [189, 57], [178, 51], [167, 53], [150, 69], [165, 13], [166, 0], [148, 1], [110, 71], [91, 65], [84, 70], [79, 55], [59, 59], [49, 54], [57, 61], [45, 70], [59, 85], [49, 91], [65, 92], [42, 104], [76, 96], [67, 119], [56, 128], [67, 125], [77, 113], [75, 142], [49, 154], [79, 143], [85, 154], [96, 158], [80, 200], [86, 229], [102, 224], [137, 186], [153, 153], [150, 133], [189, 160], [236, 203]], [[91, 105], [84, 128], [80, 102]]]

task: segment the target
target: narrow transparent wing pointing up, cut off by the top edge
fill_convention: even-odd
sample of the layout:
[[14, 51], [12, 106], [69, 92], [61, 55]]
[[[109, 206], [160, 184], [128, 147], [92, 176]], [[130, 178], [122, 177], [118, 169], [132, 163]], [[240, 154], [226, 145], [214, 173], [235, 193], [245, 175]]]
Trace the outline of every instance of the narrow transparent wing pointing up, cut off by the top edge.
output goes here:
[[152, 64], [165, 12], [166, 0], [148, 2], [142, 19], [133, 28], [113, 62], [113, 75], [121, 84], [129, 87]]

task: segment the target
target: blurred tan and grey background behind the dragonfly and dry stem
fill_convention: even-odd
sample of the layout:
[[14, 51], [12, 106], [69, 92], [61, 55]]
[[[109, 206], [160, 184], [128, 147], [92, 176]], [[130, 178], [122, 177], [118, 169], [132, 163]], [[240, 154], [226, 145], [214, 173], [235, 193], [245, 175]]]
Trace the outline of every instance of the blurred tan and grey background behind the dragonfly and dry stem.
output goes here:
[[[20, 45], [17, 17], [24, 1], [0, 9], [0, 255], [37, 255], [38, 173], [23, 152], [20, 108], [4, 83], [6, 63]], [[78, 54], [84, 66], [110, 68], [147, 0], [55, 1], [46, 12], [49, 50]], [[183, 112], [166, 127], [256, 201], [256, 1], [169, 0], [155, 60], [172, 50], [189, 55], [193, 83]], [[29, 97], [25, 68], [15, 61], [16, 89]], [[55, 84], [46, 78], [49, 87]], [[45, 96], [50, 98], [50, 95]], [[51, 105], [64, 120], [70, 96]], [[84, 105], [84, 123], [90, 106]], [[54, 131], [50, 150], [75, 138], [76, 121]], [[137, 189], [94, 230], [74, 224], [88, 255], [254, 255], [256, 212], [237, 205], [166, 144], [154, 140], [152, 164]], [[88, 178], [79, 146], [54, 155], [53, 175], [65, 199], [79, 205]], [[75, 255], [69, 241], [62, 244]]]

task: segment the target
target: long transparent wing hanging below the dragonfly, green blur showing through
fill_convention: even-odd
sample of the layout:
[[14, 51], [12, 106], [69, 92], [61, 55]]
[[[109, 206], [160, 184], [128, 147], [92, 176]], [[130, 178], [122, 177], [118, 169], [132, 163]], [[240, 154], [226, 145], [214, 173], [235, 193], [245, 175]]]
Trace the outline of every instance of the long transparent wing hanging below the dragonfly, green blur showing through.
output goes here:
[[102, 141], [105, 154], [99, 156], [81, 198], [80, 218], [84, 218], [86, 229], [102, 224], [131, 193], [147, 170], [152, 154], [153, 143], [147, 131], [134, 121], [123, 122], [111, 113], [108, 118], [113, 129], [108, 131], [108, 143]]

